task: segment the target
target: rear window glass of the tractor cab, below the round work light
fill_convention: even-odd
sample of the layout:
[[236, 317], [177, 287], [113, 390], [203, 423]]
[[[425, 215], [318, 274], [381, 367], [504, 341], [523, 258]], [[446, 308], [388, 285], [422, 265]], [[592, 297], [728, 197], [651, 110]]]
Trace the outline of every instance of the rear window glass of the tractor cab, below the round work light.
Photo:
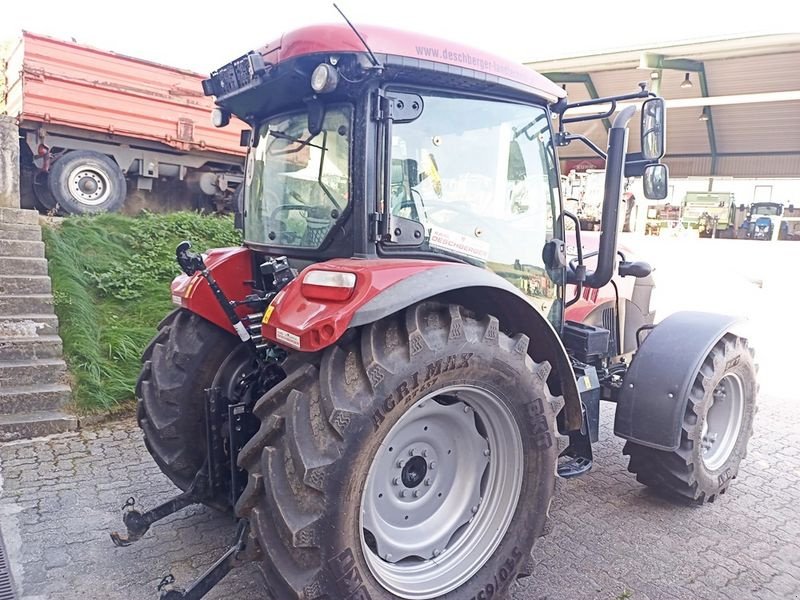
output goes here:
[[319, 133], [308, 114], [263, 123], [250, 152], [245, 194], [247, 241], [318, 248], [347, 207], [350, 110], [328, 108]]

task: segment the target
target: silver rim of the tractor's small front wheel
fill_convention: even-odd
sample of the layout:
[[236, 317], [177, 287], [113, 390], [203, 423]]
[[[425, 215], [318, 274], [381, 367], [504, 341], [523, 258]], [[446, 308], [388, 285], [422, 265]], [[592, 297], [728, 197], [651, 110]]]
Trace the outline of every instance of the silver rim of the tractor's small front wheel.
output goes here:
[[730, 457], [739, 439], [744, 413], [744, 386], [734, 373], [725, 375], [711, 395], [703, 421], [700, 448], [706, 467], [716, 471]]

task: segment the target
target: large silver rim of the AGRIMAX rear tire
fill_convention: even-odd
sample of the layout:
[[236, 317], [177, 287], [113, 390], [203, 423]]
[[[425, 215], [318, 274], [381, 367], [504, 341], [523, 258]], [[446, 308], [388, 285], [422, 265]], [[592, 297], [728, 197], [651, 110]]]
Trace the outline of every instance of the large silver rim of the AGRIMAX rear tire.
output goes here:
[[387, 434], [364, 486], [372, 574], [409, 599], [463, 585], [505, 536], [523, 468], [519, 427], [493, 392], [450, 386], [419, 400]]

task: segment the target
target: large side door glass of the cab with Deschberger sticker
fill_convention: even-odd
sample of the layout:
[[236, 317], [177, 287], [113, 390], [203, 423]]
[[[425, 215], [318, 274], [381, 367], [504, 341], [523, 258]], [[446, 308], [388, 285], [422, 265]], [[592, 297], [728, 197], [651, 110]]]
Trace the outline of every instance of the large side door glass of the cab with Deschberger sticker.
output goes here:
[[548, 313], [560, 273], [548, 274], [542, 260], [559, 214], [547, 111], [439, 95], [423, 100], [418, 119], [392, 128], [392, 214], [425, 227], [425, 249], [491, 269]]

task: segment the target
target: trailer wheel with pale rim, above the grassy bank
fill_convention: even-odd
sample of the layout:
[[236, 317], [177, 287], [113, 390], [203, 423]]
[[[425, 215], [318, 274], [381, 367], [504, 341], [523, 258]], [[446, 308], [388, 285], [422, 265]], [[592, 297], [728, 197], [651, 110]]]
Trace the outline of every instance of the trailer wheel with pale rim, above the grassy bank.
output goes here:
[[50, 193], [71, 215], [111, 212], [125, 201], [127, 184], [119, 166], [98, 152], [74, 150], [53, 163]]

